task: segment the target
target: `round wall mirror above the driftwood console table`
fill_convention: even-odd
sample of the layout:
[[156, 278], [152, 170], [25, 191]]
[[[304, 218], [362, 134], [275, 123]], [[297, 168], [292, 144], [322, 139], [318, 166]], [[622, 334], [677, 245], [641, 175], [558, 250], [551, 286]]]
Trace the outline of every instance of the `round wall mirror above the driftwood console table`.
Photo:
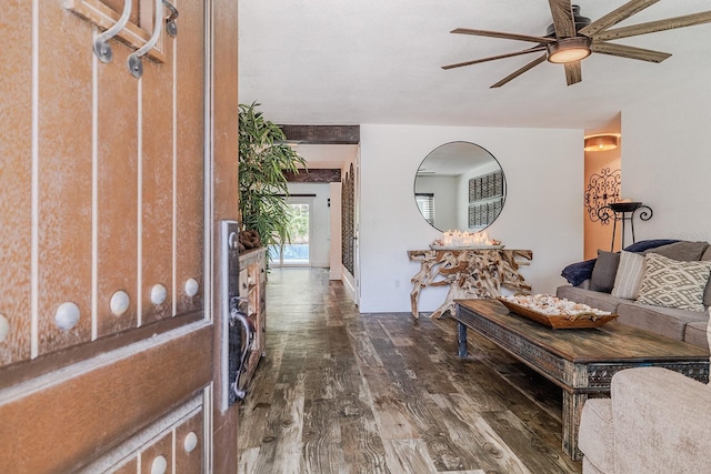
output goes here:
[[478, 144], [451, 142], [428, 154], [414, 178], [420, 213], [440, 232], [487, 229], [507, 199], [503, 170]]

